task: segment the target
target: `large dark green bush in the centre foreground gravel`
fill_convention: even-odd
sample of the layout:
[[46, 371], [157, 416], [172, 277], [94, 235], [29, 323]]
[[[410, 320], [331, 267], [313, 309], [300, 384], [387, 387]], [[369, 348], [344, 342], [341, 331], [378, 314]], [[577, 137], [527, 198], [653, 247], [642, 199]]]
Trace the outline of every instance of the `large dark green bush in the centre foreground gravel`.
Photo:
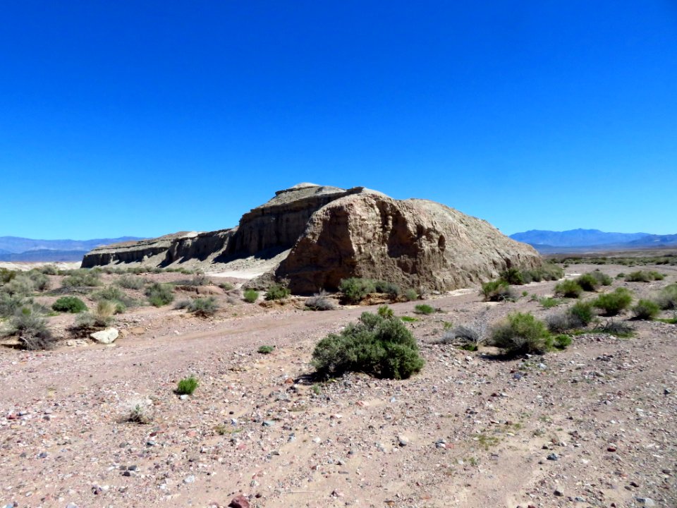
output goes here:
[[312, 364], [321, 375], [364, 372], [389, 379], [406, 379], [423, 368], [416, 339], [394, 317], [362, 313], [338, 334], [315, 346]]

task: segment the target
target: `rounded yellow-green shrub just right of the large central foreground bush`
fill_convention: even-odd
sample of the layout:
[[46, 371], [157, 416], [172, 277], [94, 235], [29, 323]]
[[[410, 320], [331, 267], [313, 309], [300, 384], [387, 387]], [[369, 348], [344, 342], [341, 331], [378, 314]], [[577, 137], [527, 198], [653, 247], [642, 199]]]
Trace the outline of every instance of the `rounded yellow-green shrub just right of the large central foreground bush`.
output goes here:
[[508, 314], [506, 320], [494, 326], [488, 343], [508, 356], [547, 351], [550, 334], [544, 322], [530, 313]]

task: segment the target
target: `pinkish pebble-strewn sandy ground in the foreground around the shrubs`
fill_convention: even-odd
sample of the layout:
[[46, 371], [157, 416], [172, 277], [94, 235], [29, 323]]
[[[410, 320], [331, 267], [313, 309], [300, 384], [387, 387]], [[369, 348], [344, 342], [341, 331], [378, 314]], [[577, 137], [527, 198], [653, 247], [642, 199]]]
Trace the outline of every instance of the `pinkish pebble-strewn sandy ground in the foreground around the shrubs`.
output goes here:
[[[657, 269], [669, 277], [614, 286], [648, 295], [676, 281]], [[172, 277], [185, 278], [148, 278]], [[413, 316], [416, 303], [392, 308]], [[427, 363], [404, 381], [310, 377], [316, 342], [374, 307], [238, 302], [213, 319], [141, 307], [118, 317], [114, 346], [1, 349], [0, 506], [226, 507], [240, 493], [255, 507], [677, 506], [676, 325], [499, 361], [436, 342], [451, 322], [563, 307], [474, 290], [428, 303], [441, 312], [408, 325]], [[51, 318], [60, 332], [72, 319]], [[182, 400], [173, 388], [190, 374], [200, 386]], [[126, 421], [139, 403], [152, 423]]]

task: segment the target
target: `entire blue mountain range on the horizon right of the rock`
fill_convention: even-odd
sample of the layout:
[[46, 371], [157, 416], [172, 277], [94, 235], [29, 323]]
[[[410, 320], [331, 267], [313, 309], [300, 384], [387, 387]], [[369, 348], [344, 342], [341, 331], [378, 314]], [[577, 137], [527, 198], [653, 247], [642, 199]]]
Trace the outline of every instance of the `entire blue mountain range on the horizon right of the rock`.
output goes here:
[[606, 233], [599, 229], [542, 231], [533, 229], [510, 236], [529, 243], [542, 254], [585, 252], [587, 250], [640, 250], [647, 248], [677, 248], [677, 234]]

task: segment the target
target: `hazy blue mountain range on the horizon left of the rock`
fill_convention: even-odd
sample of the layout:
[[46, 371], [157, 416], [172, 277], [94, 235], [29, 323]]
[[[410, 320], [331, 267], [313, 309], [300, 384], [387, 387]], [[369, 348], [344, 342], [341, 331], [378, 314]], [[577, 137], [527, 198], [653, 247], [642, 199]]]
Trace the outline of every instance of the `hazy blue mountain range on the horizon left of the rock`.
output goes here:
[[0, 236], [0, 261], [81, 261], [95, 247], [142, 239], [122, 236], [93, 240], [33, 240], [19, 236]]

